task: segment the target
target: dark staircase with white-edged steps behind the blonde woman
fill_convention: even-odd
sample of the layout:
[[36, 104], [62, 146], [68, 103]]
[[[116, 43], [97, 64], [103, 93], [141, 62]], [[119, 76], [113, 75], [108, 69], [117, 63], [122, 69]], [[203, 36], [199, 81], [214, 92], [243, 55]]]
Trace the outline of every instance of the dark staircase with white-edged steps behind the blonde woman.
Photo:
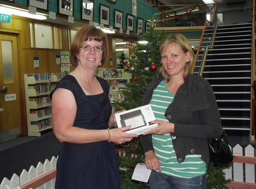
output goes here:
[[[203, 78], [215, 93], [225, 130], [250, 133], [252, 24], [218, 26]], [[248, 132], [249, 131], [249, 132]]]

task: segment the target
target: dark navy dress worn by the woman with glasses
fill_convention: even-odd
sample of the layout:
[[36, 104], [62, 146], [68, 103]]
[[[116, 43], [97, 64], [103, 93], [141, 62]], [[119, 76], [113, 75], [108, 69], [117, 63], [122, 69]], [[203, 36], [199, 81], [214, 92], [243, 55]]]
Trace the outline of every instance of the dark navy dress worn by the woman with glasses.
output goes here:
[[[86, 95], [71, 75], [64, 76], [55, 88], [70, 90], [75, 96], [77, 112], [74, 127], [93, 130], [108, 128], [112, 110], [108, 98], [109, 86], [105, 79], [97, 79], [104, 90], [104, 93], [98, 95]], [[55, 189], [120, 188], [118, 160], [112, 143], [62, 143], [58, 154]]]

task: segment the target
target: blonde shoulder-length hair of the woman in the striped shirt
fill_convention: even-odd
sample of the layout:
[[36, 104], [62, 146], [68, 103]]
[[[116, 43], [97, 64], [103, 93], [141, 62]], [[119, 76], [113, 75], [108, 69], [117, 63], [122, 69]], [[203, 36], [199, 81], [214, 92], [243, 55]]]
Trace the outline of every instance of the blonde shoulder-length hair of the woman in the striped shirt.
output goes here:
[[[186, 76], [189, 75], [189, 73], [192, 73], [192, 66], [193, 66], [194, 59], [195, 59], [195, 53], [192, 50], [191, 46], [189, 45], [189, 42], [185, 36], [183, 36], [182, 34], [169, 34], [168, 36], [166, 36], [163, 39], [163, 41], [160, 44], [160, 54], [161, 55], [162, 55], [163, 51], [165, 50], [165, 48], [170, 43], [176, 43], [177, 45], [179, 45], [181, 47], [181, 49], [183, 50], [184, 53], [187, 53], [188, 51], [190, 53], [189, 62], [186, 62], [185, 68], [184, 68], [183, 78], [185, 78]], [[162, 73], [164, 79], [166, 79], [167, 82], [169, 82], [170, 75], [166, 72], [163, 65], [160, 69], [160, 72]]]

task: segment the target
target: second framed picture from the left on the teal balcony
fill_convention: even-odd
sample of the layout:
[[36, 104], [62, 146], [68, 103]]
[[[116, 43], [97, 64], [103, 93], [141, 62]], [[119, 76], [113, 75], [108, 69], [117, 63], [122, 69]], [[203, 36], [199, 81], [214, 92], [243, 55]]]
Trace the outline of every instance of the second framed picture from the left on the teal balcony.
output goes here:
[[73, 17], [74, 0], [58, 0], [58, 14], [65, 17]]

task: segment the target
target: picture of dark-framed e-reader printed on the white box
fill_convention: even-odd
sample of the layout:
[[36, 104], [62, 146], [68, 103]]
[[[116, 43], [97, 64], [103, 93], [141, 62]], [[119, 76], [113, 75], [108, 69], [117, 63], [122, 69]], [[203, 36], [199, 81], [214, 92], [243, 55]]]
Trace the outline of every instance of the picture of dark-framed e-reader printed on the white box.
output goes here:
[[137, 116], [132, 116], [132, 117], [128, 117], [125, 119], [121, 119], [120, 122], [121, 122], [122, 127], [131, 125], [131, 128], [129, 130], [147, 125], [143, 114], [139, 114]]

